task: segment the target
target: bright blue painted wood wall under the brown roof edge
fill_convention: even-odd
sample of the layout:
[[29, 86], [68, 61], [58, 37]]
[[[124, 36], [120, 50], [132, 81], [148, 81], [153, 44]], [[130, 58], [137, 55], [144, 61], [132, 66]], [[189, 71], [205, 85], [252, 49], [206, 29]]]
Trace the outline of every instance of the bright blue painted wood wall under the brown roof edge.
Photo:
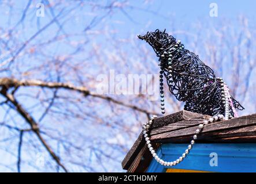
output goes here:
[[[164, 160], [173, 161], [179, 158], [187, 144], [162, 144], [158, 152]], [[210, 166], [210, 154], [218, 156], [218, 166]], [[213, 172], [256, 172], [256, 144], [195, 144], [190, 154], [177, 166], [158, 168], [160, 165], [153, 160], [149, 166], [150, 172], [164, 172], [166, 168]]]

